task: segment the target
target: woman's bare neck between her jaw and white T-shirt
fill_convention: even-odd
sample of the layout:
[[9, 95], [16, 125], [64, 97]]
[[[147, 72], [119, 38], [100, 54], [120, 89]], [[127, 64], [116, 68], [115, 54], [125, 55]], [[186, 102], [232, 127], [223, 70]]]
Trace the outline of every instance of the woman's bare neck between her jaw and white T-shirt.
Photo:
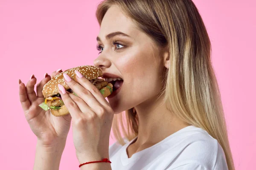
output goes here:
[[156, 144], [188, 126], [167, 109], [163, 104], [163, 97], [158, 100], [156, 97], [135, 107], [139, 129], [138, 138], [134, 144], [136, 143], [138, 147], [143, 144]]

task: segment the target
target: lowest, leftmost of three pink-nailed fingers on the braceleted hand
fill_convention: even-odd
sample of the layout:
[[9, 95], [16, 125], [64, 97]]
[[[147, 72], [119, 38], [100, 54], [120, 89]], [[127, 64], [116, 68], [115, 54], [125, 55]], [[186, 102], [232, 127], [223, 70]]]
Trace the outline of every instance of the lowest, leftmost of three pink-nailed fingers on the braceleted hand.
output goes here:
[[61, 94], [61, 99], [64, 102], [64, 105], [67, 107], [67, 110], [69, 111], [72, 119], [79, 119], [79, 115], [81, 115], [81, 111], [79, 107], [76, 105], [76, 102], [74, 102], [70, 96], [67, 94], [67, 91], [63, 87], [63, 85], [58, 84], [58, 91], [59, 94]]

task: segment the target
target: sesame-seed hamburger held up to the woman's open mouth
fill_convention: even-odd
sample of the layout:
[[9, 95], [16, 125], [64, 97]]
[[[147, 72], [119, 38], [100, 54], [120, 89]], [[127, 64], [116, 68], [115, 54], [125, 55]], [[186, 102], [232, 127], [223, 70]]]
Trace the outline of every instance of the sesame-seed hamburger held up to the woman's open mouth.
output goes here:
[[47, 82], [42, 91], [45, 101], [39, 105], [41, 108], [43, 108], [45, 111], [50, 109], [52, 115], [54, 116], [64, 116], [69, 114], [69, 111], [64, 105], [61, 95], [58, 92], [58, 84], [63, 85], [66, 91], [77, 96], [77, 94], [75, 94], [64, 82], [63, 77], [63, 73], [66, 73], [69, 75], [69, 77], [77, 82], [75, 70], [79, 71], [85, 78], [95, 85], [104, 97], [112, 94], [113, 85], [104, 79], [98, 79], [98, 77], [102, 76], [102, 70], [92, 65], [84, 65], [70, 68], [64, 72], [61, 72]]

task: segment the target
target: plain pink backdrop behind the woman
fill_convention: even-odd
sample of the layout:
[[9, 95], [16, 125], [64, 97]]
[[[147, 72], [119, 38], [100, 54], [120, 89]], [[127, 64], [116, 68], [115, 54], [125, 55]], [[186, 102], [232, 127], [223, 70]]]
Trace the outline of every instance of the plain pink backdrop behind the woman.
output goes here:
[[[252, 170], [256, 155], [256, 3], [254, 0], [194, 0], [212, 42], [212, 62], [221, 89], [237, 170]], [[23, 115], [18, 79], [93, 65], [97, 57], [99, 0], [0, 0], [0, 169], [31, 170], [36, 137]], [[114, 142], [110, 140], [110, 144]], [[61, 170], [79, 170], [72, 133]]]

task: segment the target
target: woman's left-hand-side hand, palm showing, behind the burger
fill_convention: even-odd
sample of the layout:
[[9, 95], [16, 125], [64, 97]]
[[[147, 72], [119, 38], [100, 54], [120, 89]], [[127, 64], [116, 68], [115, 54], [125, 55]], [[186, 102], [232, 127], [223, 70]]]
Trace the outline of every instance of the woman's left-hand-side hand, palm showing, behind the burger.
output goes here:
[[[61, 73], [61, 70], [52, 73], [52, 77]], [[38, 138], [39, 144], [44, 147], [55, 147], [58, 144], [65, 144], [70, 129], [71, 116], [56, 117], [50, 110], [44, 111], [38, 105], [44, 102], [42, 94], [43, 86], [51, 79], [49, 75], [38, 83], [37, 94], [34, 91], [36, 78], [32, 75], [26, 86], [19, 80], [20, 103], [27, 122], [33, 133]], [[63, 148], [64, 149], [64, 148]]]

